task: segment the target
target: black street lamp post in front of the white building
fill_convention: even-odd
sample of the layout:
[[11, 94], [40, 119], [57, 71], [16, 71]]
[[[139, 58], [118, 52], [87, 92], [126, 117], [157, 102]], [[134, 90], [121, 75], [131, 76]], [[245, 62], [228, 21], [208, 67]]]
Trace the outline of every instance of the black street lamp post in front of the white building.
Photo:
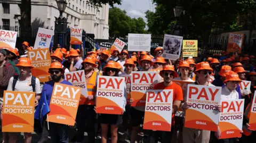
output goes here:
[[62, 13], [67, 7], [65, 0], [56, 1], [60, 12], [59, 18], [55, 17], [54, 27], [54, 46], [60, 44], [62, 47], [67, 45], [67, 18], [63, 18]]

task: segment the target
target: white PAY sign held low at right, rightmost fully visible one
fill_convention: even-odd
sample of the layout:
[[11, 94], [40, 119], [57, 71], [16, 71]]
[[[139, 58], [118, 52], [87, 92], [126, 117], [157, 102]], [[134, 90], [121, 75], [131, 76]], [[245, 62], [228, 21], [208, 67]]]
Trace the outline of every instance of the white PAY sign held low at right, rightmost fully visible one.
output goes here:
[[220, 139], [242, 137], [244, 99], [221, 100]]

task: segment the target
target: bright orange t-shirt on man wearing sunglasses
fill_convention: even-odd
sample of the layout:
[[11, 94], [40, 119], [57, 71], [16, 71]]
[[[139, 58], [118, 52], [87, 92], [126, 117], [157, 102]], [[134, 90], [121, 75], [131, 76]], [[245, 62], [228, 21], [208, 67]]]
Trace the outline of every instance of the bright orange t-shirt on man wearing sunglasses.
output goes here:
[[[154, 90], [158, 90], [158, 89], [173, 89], [173, 101], [174, 100], [183, 100], [183, 92], [182, 92], [182, 89], [179, 85], [177, 85], [176, 83], [172, 82], [172, 85], [171, 86], [167, 86], [165, 87], [164, 86], [164, 82], [160, 82], [160, 83], [157, 83], [154, 88]], [[172, 114], [172, 126], [174, 125], [174, 116], [175, 114]]]

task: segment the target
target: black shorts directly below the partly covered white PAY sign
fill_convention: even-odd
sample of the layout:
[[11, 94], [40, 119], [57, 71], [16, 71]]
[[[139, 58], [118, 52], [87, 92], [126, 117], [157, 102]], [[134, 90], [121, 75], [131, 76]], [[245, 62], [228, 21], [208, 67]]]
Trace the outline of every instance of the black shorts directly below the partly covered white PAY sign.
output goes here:
[[144, 115], [145, 115], [145, 112], [139, 111], [139, 110], [131, 107], [132, 126], [137, 127], [140, 124], [143, 124]]

